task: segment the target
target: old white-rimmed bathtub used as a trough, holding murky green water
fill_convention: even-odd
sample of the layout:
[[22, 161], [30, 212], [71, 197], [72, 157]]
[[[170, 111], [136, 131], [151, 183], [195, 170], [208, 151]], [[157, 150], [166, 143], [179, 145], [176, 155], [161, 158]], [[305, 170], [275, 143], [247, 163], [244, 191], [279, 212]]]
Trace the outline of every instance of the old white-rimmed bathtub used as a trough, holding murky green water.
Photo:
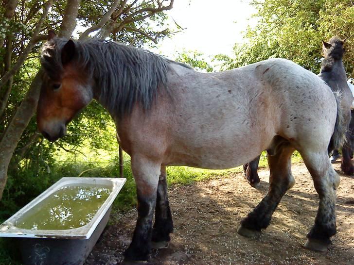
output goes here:
[[[109, 218], [114, 199], [125, 178], [62, 178], [0, 225], [1, 237], [15, 238], [24, 264], [83, 264]], [[35, 205], [66, 186], [104, 186], [111, 192], [91, 221], [67, 230], [29, 230], [16, 227], [21, 217], [31, 213]]]

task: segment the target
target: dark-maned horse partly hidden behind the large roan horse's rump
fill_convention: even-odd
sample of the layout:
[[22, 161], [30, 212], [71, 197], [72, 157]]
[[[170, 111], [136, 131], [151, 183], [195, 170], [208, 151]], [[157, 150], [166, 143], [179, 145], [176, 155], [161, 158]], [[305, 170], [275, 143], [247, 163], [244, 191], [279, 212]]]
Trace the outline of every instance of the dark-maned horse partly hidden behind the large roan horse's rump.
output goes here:
[[[321, 63], [321, 69], [318, 76], [326, 82], [332, 91], [341, 94], [341, 108], [345, 113], [344, 119], [347, 124], [347, 141], [342, 147], [342, 162], [341, 170], [346, 175], [354, 174], [354, 166], [351, 160], [351, 141], [354, 134], [354, 120], [351, 121], [351, 109], [353, 104], [353, 94], [349, 88], [350, 83], [347, 83], [347, 76], [343, 66], [343, 48], [345, 40], [339, 37], [332, 37], [329, 42], [322, 41], [322, 49], [324, 59]], [[331, 150], [329, 150], [331, 151]], [[258, 155], [251, 162], [244, 164], [244, 174], [248, 183], [257, 188], [260, 184], [260, 179], [257, 173], [260, 155]]]

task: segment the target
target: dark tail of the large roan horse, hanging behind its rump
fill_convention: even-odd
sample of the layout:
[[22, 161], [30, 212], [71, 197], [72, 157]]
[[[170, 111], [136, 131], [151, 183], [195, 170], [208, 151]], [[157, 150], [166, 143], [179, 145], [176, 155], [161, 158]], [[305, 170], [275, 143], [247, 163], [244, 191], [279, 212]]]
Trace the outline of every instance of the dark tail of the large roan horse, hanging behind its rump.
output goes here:
[[336, 103], [337, 103], [337, 117], [336, 117], [335, 130], [332, 134], [331, 141], [329, 142], [328, 145], [328, 152], [331, 152], [334, 149], [339, 149], [340, 147], [343, 146], [343, 144], [347, 140], [346, 139], [347, 126], [344, 120], [343, 110], [340, 107], [340, 101], [342, 97], [339, 92], [333, 91], [333, 94], [335, 95]]

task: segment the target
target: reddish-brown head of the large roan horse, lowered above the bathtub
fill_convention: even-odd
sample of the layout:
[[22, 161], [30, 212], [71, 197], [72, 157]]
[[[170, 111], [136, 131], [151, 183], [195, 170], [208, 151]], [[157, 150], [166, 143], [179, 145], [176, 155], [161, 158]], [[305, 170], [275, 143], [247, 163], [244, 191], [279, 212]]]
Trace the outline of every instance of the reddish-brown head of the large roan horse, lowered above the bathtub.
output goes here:
[[72, 40], [52, 38], [42, 50], [37, 126], [50, 141], [64, 136], [66, 125], [93, 98], [92, 81], [78, 63], [79, 49]]

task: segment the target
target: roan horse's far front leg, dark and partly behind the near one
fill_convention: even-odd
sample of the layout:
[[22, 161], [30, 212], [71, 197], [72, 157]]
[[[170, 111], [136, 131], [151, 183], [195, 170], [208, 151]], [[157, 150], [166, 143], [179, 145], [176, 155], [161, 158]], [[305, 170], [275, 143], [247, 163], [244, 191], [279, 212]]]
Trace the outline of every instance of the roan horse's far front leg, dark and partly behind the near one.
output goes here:
[[166, 167], [161, 166], [157, 191], [155, 223], [152, 230], [152, 248], [167, 247], [170, 233], [173, 232], [173, 221], [167, 197]]

